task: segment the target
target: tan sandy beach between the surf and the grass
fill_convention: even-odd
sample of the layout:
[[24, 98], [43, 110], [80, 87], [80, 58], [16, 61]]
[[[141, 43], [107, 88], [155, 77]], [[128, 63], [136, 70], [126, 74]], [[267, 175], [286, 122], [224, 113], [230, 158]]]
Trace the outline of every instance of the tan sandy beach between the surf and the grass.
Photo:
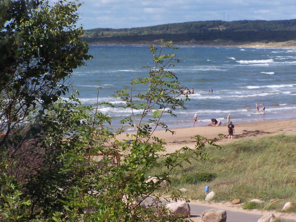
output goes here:
[[[192, 121], [193, 124], [193, 121]], [[296, 118], [287, 120], [265, 120], [256, 121], [249, 123], [240, 123], [234, 125], [235, 133], [233, 140], [237, 139], [250, 139], [260, 136], [277, 135], [277, 134], [295, 134], [296, 133]], [[174, 152], [181, 147], [187, 146], [194, 148], [195, 135], [201, 135], [208, 139], [217, 138], [217, 144], [228, 143], [228, 136], [223, 139], [218, 139], [218, 134], [223, 133], [228, 135], [227, 125], [221, 126], [197, 126], [197, 127], [186, 127], [173, 129], [175, 134], [165, 132], [165, 130], [159, 130], [154, 132], [154, 136], [165, 139], [167, 142], [165, 148], [168, 153]], [[126, 134], [119, 135], [119, 140], [127, 139]]]

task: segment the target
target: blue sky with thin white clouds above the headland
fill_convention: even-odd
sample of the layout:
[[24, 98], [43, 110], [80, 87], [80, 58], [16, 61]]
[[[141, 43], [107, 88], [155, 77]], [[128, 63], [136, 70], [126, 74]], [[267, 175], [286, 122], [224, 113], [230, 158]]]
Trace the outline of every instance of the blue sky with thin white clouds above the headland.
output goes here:
[[78, 24], [83, 29], [206, 20], [287, 20], [296, 19], [296, 0], [84, 0], [79, 13]]

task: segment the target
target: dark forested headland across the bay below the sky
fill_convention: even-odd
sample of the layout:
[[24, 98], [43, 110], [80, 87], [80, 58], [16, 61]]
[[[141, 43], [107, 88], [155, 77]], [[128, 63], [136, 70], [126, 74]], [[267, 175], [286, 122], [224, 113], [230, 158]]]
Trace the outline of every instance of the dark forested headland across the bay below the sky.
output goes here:
[[96, 28], [84, 31], [90, 44], [145, 44], [159, 39], [181, 44], [240, 44], [296, 39], [293, 20], [222, 20], [182, 22], [140, 28]]

